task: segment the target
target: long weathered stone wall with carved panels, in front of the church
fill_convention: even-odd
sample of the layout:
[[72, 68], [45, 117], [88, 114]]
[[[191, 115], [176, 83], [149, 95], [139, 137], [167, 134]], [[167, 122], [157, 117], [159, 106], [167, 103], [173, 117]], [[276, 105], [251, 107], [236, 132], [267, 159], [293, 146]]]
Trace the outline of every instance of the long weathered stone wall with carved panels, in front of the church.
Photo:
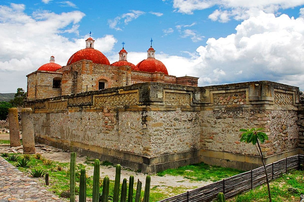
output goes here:
[[240, 128], [265, 128], [267, 163], [302, 152], [299, 89], [270, 81], [207, 87], [147, 82], [28, 101], [26, 107], [34, 112], [37, 141], [149, 173], [199, 161], [260, 166], [256, 148], [240, 143]]

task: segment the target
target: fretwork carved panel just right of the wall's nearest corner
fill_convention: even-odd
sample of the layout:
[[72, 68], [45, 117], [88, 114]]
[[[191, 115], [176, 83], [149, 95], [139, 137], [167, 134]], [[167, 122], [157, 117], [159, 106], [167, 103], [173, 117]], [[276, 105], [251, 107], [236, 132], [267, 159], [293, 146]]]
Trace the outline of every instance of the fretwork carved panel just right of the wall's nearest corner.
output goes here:
[[165, 104], [167, 105], [190, 105], [190, 94], [165, 92]]

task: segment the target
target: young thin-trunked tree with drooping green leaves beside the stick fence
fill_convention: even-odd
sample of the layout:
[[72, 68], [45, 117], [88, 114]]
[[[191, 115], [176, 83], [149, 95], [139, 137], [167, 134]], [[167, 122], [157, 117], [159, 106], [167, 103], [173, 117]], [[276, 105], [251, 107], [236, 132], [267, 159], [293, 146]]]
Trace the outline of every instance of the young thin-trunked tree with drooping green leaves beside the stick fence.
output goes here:
[[268, 136], [266, 133], [262, 132], [264, 128], [251, 128], [251, 129], [240, 129], [240, 131], [244, 132], [241, 135], [241, 142], [246, 142], [246, 143], [252, 143], [255, 145], [257, 148], [257, 152], [259, 153], [262, 163], [265, 169], [265, 174], [266, 174], [266, 182], [267, 182], [267, 187], [268, 187], [268, 197], [269, 197], [269, 202], [271, 202], [271, 194], [270, 194], [270, 187], [269, 187], [269, 180], [268, 180], [268, 174], [267, 174], [267, 169], [264, 163], [264, 157], [262, 154], [262, 150], [259, 144], [259, 141], [261, 143], [264, 143], [265, 140], [268, 140]]

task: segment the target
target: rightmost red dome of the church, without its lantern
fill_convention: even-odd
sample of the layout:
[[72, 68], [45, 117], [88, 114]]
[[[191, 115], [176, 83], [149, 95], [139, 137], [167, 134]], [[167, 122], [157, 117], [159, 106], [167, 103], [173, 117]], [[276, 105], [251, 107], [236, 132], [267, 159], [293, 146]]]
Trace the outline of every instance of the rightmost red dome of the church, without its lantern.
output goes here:
[[160, 71], [168, 75], [166, 66], [161, 61], [155, 58], [147, 58], [143, 61], [140, 61], [136, 65], [136, 67], [139, 69], [139, 71], [148, 71], [148, 72]]

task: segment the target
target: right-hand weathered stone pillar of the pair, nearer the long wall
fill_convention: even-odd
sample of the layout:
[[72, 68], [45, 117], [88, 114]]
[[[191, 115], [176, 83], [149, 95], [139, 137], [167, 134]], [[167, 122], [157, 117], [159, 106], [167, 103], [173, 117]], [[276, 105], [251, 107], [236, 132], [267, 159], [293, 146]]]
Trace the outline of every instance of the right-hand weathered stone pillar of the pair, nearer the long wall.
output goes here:
[[23, 154], [35, 154], [34, 125], [32, 108], [22, 108], [22, 144]]

